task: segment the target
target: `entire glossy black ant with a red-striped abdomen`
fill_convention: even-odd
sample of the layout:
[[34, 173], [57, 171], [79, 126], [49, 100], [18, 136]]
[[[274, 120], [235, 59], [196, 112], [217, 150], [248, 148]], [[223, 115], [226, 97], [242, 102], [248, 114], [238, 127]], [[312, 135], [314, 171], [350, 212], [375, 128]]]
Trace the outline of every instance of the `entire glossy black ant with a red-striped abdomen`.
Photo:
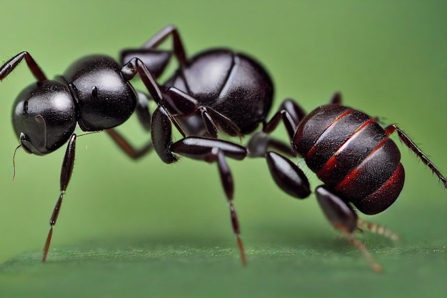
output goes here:
[[[158, 49], [169, 36], [173, 40], [172, 52]], [[164, 72], [171, 54], [179, 62], [179, 69], [165, 84], [159, 84], [156, 79]], [[351, 204], [363, 213], [376, 214], [389, 207], [401, 192], [404, 174], [400, 153], [388, 136], [397, 131], [404, 144], [447, 187], [446, 178], [401, 129], [391, 125], [383, 130], [376, 119], [341, 106], [339, 94], [333, 96], [331, 104], [307, 116], [294, 101], [283, 101], [273, 118], [266, 121], [273, 100], [273, 84], [261, 64], [228, 49], [211, 49], [186, 59], [174, 26], [166, 26], [141, 49], [122, 51], [121, 64], [109, 56], [87, 56], [74, 62], [63, 76], [50, 81], [31, 55], [22, 52], [1, 66], [0, 79], [11, 73], [22, 59], [38, 81], [24, 89], [14, 104], [13, 124], [21, 147], [42, 155], [54, 152], [68, 141], [61, 169], [61, 194], [51, 215], [42, 262], [46, 260], [53, 226], [73, 170], [76, 124], [84, 131], [105, 130], [134, 159], [155, 149], [166, 163], [176, 162], [176, 154], [216, 162], [243, 264], [246, 257], [226, 157], [266, 157], [278, 186], [294, 197], [304, 198], [311, 190], [301, 169], [269, 150], [301, 155], [325, 183], [316, 188], [324, 214], [366, 255], [376, 271], [380, 267], [353, 233], [378, 226], [358, 219]], [[129, 83], [136, 74], [157, 104], [152, 115], [148, 97], [136, 92]], [[141, 125], [151, 131], [151, 143], [142, 149], [134, 149], [114, 129], [129, 119], [134, 110]], [[281, 120], [292, 146], [268, 136]], [[172, 141], [172, 124], [183, 136], [176, 142]], [[254, 134], [247, 147], [217, 139], [218, 131], [241, 137], [259, 124], [263, 124], [263, 132]], [[383, 234], [393, 237], [389, 230]]]

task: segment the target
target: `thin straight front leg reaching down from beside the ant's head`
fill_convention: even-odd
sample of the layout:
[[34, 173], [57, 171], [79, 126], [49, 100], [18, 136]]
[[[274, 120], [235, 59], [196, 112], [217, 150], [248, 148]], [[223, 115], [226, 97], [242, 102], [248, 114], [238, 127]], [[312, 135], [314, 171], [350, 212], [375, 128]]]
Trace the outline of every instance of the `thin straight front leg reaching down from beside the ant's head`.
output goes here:
[[42, 256], [42, 263], [46, 261], [46, 255], [48, 254], [48, 250], [50, 247], [51, 237], [53, 236], [53, 227], [54, 224], [56, 224], [57, 217], [59, 216], [59, 212], [61, 211], [62, 199], [64, 198], [66, 187], [69, 185], [71, 173], [73, 172], [75, 148], [76, 148], [76, 134], [72, 134], [69, 140], [69, 144], [66, 147], [64, 161], [62, 162], [61, 194], [59, 194], [59, 199], [57, 200], [56, 206], [54, 207], [53, 213], [51, 214], [50, 230], [48, 236], [46, 237], [44, 255]]

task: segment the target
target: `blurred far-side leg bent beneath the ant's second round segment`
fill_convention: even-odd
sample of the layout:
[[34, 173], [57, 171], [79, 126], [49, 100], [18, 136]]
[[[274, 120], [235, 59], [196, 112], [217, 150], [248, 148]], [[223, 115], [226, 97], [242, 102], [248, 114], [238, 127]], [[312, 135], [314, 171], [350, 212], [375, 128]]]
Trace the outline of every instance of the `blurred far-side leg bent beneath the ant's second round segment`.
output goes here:
[[[137, 92], [137, 95], [138, 100], [136, 104], [136, 115], [138, 116], [139, 122], [141, 126], [143, 126], [144, 130], [150, 131], [151, 114], [149, 112], [148, 98], [141, 92]], [[124, 153], [131, 157], [131, 159], [139, 159], [140, 157], [143, 157], [151, 152], [154, 148], [151, 141], [149, 141], [149, 143], [143, 148], [135, 149], [134, 146], [132, 146], [129, 141], [124, 138], [124, 136], [119, 134], [116, 129], [106, 129], [106, 133], [111, 136], [112, 140], [115, 141], [115, 143], [123, 150]]]

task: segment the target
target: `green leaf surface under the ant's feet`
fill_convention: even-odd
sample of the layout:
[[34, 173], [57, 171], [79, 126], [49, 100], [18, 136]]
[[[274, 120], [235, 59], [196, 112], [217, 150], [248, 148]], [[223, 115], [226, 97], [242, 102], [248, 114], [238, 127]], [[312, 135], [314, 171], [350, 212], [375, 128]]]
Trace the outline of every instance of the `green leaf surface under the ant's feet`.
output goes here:
[[2, 297], [444, 297], [446, 247], [434, 247], [372, 249], [381, 274], [341, 243], [248, 249], [245, 268], [228, 248], [66, 247], [46, 264], [5, 262], [0, 287]]

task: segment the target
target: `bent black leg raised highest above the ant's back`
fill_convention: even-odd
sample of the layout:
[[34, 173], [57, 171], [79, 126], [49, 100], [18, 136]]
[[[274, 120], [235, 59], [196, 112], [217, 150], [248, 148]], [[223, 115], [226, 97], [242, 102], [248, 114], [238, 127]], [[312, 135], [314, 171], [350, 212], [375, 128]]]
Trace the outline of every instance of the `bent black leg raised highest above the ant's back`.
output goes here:
[[159, 44], [172, 36], [174, 55], [181, 66], [186, 64], [186, 54], [184, 50], [183, 43], [179, 35], [179, 31], [173, 25], [168, 25], [161, 29], [159, 32], [154, 34], [154, 36], [146, 41], [146, 43], [141, 47], [141, 49], [124, 49], [121, 51], [121, 63], [126, 64], [133, 58], [139, 58], [144, 61], [149, 69], [153, 72], [156, 77], [159, 77], [166, 65], [171, 59], [171, 51], [156, 49]]

